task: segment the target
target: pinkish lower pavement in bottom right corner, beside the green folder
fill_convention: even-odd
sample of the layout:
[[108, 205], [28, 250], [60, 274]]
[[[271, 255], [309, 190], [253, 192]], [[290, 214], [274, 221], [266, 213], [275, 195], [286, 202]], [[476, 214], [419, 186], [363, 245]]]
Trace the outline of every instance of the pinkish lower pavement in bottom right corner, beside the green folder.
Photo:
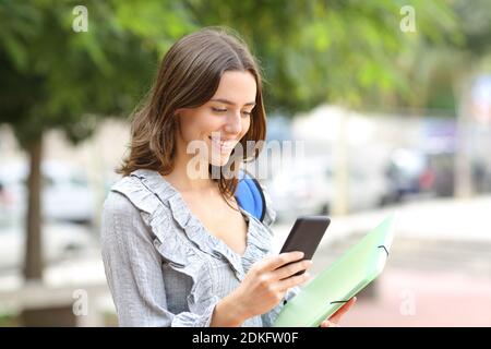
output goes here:
[[386, 269], [375, 300], [360, 298], [343, 326], [491, 326], [491, 276]]

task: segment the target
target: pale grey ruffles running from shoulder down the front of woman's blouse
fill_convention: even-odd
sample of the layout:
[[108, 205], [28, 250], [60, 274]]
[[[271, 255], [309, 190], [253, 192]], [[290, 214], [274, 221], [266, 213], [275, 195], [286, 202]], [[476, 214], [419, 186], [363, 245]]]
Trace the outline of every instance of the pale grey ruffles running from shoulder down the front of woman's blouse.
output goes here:
[[[253, 263], [271, 253], [273, 231], [270, 225], [276, 214], [271, 207], [271, 200], [264, 188], [267, 203], [264, 222], [240, 208], [248, 220], [247, 249], [242, 256], [209, 233], [189, 209], [181, 194], [158, 172], [144, 169], [133, 171], [116, 183], [111, 190], [125, 195], [141, 210], [144, 222], [156, 237], [155, 248], [169, 265], [192, 277], [194, 286], [202, 284], [199, 288], [200, 294], [191, 292], [190, 308], [196, 302], [208, 302], [213, 298], [211, 278], [203, 277], [208, 275], [208, 272], [203, 269], [206, 263], [194, 248], [215, 258], [227, 261], [239, 281], [244, 278]], [[176, 233], [172, 221], [182, 232]]]

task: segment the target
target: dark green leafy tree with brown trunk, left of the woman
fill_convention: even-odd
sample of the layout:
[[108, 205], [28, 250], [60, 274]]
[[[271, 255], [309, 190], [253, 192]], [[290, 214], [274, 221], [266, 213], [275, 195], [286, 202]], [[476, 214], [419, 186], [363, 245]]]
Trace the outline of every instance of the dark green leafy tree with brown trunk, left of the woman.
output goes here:
[[[43, 278], [43, 135], [60, 129], [76, 143], [89, 136], [101, 118], [127, 115], [152, 80], [161, 44], [185, 28], [160, 24], [158, 36], [142, 38], [145, 22], [129, 14], [148, 8], [118, 3], [86, 3], [88, 31], [75, 33], [75, 2], [0, 2], [0, 122], [13, 128], [31, 165], [26, 279]], [[165, 17], [168, 10], [161, 5], [146, 15]]]

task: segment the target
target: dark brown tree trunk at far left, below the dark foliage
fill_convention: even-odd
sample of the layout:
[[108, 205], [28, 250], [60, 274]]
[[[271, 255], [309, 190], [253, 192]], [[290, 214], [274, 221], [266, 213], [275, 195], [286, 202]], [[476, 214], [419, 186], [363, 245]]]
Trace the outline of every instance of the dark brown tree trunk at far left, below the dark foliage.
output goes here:
[[29, 281], [43, 280], [43, 241], [41, 241], [41, 169], [43, 135], [29, 142], [29, 176], [27, 180], [27, 214], [26, 214], [26, 250], [24, 277]]

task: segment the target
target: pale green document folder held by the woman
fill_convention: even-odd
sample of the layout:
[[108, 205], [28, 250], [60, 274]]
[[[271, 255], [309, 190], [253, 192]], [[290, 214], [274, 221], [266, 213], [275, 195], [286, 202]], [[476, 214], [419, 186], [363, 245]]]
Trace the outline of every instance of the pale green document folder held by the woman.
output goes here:
[[275, 327], [316, 327], [383, 270], [394, 238], [395, 215], [320, 273], [282, 310]]

